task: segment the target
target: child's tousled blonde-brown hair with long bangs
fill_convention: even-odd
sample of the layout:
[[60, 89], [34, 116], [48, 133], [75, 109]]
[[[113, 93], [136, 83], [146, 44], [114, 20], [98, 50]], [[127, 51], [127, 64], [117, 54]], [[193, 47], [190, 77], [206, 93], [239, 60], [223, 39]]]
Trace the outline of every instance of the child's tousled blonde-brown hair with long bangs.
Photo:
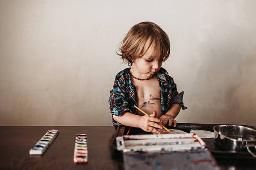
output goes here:
[[[149, 45], [147, 45], [149, 44]], [[152, 56], [165, 61], [170, 55], [170, 40], [165, 31], [153, 22], [138, 23], [128, 31], [121, 42], [119, 56], [132, 66], [135, 59], [142, 57], [153, 45]]]

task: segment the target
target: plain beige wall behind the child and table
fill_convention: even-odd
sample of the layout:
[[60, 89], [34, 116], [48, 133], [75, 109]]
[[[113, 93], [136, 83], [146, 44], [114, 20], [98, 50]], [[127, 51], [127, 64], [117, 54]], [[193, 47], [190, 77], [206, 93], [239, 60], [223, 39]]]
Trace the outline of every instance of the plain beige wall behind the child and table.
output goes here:
[[0, 125], [111, 126], [115, 54], [129, 28], [170, 36], [163, 65], [188, 109], [178, 122], [256, 126], [254, 0], [1, 0]]

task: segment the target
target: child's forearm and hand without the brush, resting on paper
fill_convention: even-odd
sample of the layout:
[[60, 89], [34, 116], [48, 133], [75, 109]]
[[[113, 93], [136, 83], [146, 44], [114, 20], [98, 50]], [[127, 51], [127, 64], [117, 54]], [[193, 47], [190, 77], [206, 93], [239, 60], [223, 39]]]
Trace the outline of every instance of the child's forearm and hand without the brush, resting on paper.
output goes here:
[[171, 126], [171, 124], [174, 123], [174, 127], [176, 127], [177, 121], [174, 120], [174, 118], [179, 114], [180, 108], [181, 106], [178, 103], [172, 104], [165, 115], [159, 118], [162, 125], [169, 123], [168, 125]]

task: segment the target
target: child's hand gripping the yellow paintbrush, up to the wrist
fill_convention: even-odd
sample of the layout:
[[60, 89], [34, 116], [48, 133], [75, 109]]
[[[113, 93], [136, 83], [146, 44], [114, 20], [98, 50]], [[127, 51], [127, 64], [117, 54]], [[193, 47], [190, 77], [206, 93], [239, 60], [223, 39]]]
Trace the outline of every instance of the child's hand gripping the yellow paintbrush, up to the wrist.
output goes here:
[[139, 127], [146, 132], [153, 132], [161, 134], [156, 128], [162, 129], [162, 126], [156, 122], [160, 122], [160, 119], [156, 118], [156, 111], [153, 111], [153, 114], [150, 116], [141, 116], [138, 120]]

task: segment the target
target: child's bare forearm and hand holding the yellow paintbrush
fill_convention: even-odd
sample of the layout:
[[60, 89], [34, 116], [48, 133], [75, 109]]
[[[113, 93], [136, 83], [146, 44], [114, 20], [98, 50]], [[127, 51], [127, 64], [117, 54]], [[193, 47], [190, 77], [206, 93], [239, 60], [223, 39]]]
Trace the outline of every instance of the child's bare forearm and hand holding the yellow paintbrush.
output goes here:
[[132, 114], [130, 112], [124, 113], [122, 116], [115, 116], [113, 115], [113, 118], [115, 121], [126, 125], [126, 126], [132, 126], [132, 127], [139, 127], [142, 130], [146, 132], [153, 132], [158, 133], [160, 132], [156, 129], [162, 129], [162, 126], [158, 125], [156, 122], [160, 122], [160, 119], [157, 119], [156, 117], [156, 111], [153, 112], [150, 116], [139, 116]]

